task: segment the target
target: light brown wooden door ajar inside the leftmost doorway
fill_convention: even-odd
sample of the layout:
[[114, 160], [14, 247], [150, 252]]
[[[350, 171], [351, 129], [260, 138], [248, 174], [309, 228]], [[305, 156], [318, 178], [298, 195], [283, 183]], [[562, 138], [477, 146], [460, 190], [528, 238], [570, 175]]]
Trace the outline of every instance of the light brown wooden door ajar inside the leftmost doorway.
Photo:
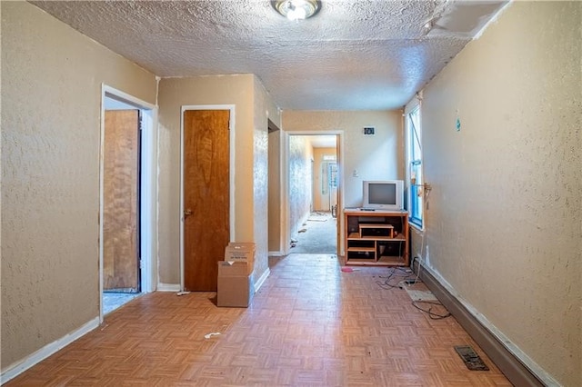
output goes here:
[[139, 293], [139, 110], [105, 111], [104, 155], [104, 291]]

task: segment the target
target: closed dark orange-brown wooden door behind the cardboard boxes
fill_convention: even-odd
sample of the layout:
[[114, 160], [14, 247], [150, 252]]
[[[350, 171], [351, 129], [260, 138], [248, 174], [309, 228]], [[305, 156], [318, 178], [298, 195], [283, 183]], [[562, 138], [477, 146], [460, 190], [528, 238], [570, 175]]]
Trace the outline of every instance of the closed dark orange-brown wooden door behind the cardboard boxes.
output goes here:
[[184, 290], [216, 292], [230, 239], [228, 110], [184, 112]]

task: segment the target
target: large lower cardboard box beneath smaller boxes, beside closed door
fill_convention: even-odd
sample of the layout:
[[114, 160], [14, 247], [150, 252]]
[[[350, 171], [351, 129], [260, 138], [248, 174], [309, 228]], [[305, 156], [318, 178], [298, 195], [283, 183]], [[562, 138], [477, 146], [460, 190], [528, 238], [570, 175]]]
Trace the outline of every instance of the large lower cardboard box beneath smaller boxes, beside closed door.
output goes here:
[[251, 277], [246, 262], [218, 262], [216, 305], [246, 308], [252, 298]]

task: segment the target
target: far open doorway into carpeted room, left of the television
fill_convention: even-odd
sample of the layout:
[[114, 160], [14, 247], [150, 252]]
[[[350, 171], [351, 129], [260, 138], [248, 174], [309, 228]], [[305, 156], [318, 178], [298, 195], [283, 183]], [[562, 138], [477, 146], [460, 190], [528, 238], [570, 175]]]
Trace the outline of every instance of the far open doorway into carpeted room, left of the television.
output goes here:
[[289, 134], [289, 253], [337, 253], [337, 134]]

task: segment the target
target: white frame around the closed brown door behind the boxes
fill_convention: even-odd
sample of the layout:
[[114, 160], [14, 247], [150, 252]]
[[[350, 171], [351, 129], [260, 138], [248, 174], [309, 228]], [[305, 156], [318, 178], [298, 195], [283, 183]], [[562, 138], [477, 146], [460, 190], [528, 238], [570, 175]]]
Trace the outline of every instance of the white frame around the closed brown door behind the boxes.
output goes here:
[[230, 240], [235, 238], [235, 122], [236, 105], [234, 104], [185, 104], [180, 109], [180, 292], [184, 292], [184, 113], [186, 110], [228, 110], [228, 216]]

